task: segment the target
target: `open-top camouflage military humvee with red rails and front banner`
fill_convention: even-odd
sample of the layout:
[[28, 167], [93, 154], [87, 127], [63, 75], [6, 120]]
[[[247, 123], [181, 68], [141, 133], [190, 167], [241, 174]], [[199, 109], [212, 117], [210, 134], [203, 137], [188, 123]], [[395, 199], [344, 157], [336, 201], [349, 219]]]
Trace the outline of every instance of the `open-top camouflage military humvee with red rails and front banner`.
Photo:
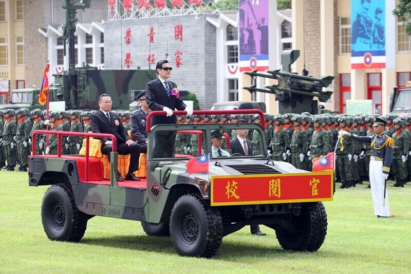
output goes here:
[[[166, 114], [152, 112], [147, 117], [146, 178], [141, 181], [117, 181], [119, 155], [113, 135], [48, 132], [59, 135], [60, 148], [61, 135], [86, 137], [85, 156], [61, 155], [59, 149], [59, 155], [29, 157], [29, 186], [51, 185], [41, 209], [48, 238], [79, 242], [87, 221], [98, 215], [141, 221], [146, 234], [171, 236], [181, 255], [213, 257], [223, 236], [256, 224], [274, 229], [284, 249], [319, 249], [327, 233], [327, 214], [321, 201], [332, 200], [332, 172], [311, 173], [269, 159], [261, 111], [194, 112], [198, 115], [251, 113], [259, 114], [263, 122], [164, 124], [151, 128], [153, 115]], [[174, 112], [174, 115], [185, 114]], [[223, 147], [230, 153], [229, 157], [212, 155], [210, 132], [215, 130], [225, 136]], [[191, 134], [191, 143], [198, 145], [197, 150], [191, 155], [153, 158], [154, 140], [165, 131]], [[232, 138], [233, 135], [249, 131], [253, 136], [249, 155], [241, 156], [238, 150], [233, 153], [237, 138]], [[101, 175], [102, 162], [88, 156], [90, 137], [113, 139], [109, 179]], [[179, 144], [176, 150], [177, 147]], [[196, 165], [202, 165], [202, 172], [197, 172], [200, 169]]]

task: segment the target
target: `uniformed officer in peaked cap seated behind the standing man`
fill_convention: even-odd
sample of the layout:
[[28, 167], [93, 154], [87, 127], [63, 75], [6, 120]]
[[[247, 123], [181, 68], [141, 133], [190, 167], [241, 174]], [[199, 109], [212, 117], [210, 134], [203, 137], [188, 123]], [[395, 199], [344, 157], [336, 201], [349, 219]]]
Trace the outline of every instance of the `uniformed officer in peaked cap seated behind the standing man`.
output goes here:
[[147, 101], [145, 100], [145, 92], [137, 96], [140, 100], [141, 107], [137, 111], [132, 112], [130, 116], [130, 129], [132, 130], [134, 140], [138, 143], [147, 143], [147, 114], [150, 112]]

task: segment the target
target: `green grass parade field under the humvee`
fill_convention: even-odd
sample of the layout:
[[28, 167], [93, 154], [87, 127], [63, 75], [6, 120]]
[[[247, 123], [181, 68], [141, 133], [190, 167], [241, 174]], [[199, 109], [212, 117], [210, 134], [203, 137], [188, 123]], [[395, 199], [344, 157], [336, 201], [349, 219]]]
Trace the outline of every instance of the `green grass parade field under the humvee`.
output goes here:
[[146, 236], [139, 222], [94, 217], [83, 240], [52, 242], [40, 207], [48, 187], [28, 187], [27, 173], [0, 171], [0, 273], [411, 272], [411, 185], [388, 188], [393, 218], [373, 215], [364, 186], [338, 189], [325, 202], [328, 232], [316, 252], [290, 252], [274, 230], [249, 227], [223, 238], [214, 259], [180, 257], [170, 238]]

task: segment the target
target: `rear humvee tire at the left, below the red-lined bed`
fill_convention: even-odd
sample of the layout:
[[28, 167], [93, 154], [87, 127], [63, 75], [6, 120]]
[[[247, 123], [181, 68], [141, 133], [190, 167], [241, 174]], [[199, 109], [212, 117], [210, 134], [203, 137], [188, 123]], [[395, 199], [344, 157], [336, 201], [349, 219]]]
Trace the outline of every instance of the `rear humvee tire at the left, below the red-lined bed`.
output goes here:
[[51, 186], [43, 197], [42, 223], [48, 239], [79, 242], [87, 228], [88, 215], [79, 211], [69, 186]]

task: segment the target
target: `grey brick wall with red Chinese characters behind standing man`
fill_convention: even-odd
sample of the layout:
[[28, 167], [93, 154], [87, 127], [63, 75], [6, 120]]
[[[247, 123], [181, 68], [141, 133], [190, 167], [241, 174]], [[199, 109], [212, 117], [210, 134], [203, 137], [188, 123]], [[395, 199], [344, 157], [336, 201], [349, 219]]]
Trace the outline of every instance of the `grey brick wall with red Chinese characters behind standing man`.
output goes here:
[[107, 21], [104, 34], [106, 69], [155, 69], [168, 53], [170, 80], [195, 93], [202, 109], [216, 102], [216, 29], [206, 15]]

